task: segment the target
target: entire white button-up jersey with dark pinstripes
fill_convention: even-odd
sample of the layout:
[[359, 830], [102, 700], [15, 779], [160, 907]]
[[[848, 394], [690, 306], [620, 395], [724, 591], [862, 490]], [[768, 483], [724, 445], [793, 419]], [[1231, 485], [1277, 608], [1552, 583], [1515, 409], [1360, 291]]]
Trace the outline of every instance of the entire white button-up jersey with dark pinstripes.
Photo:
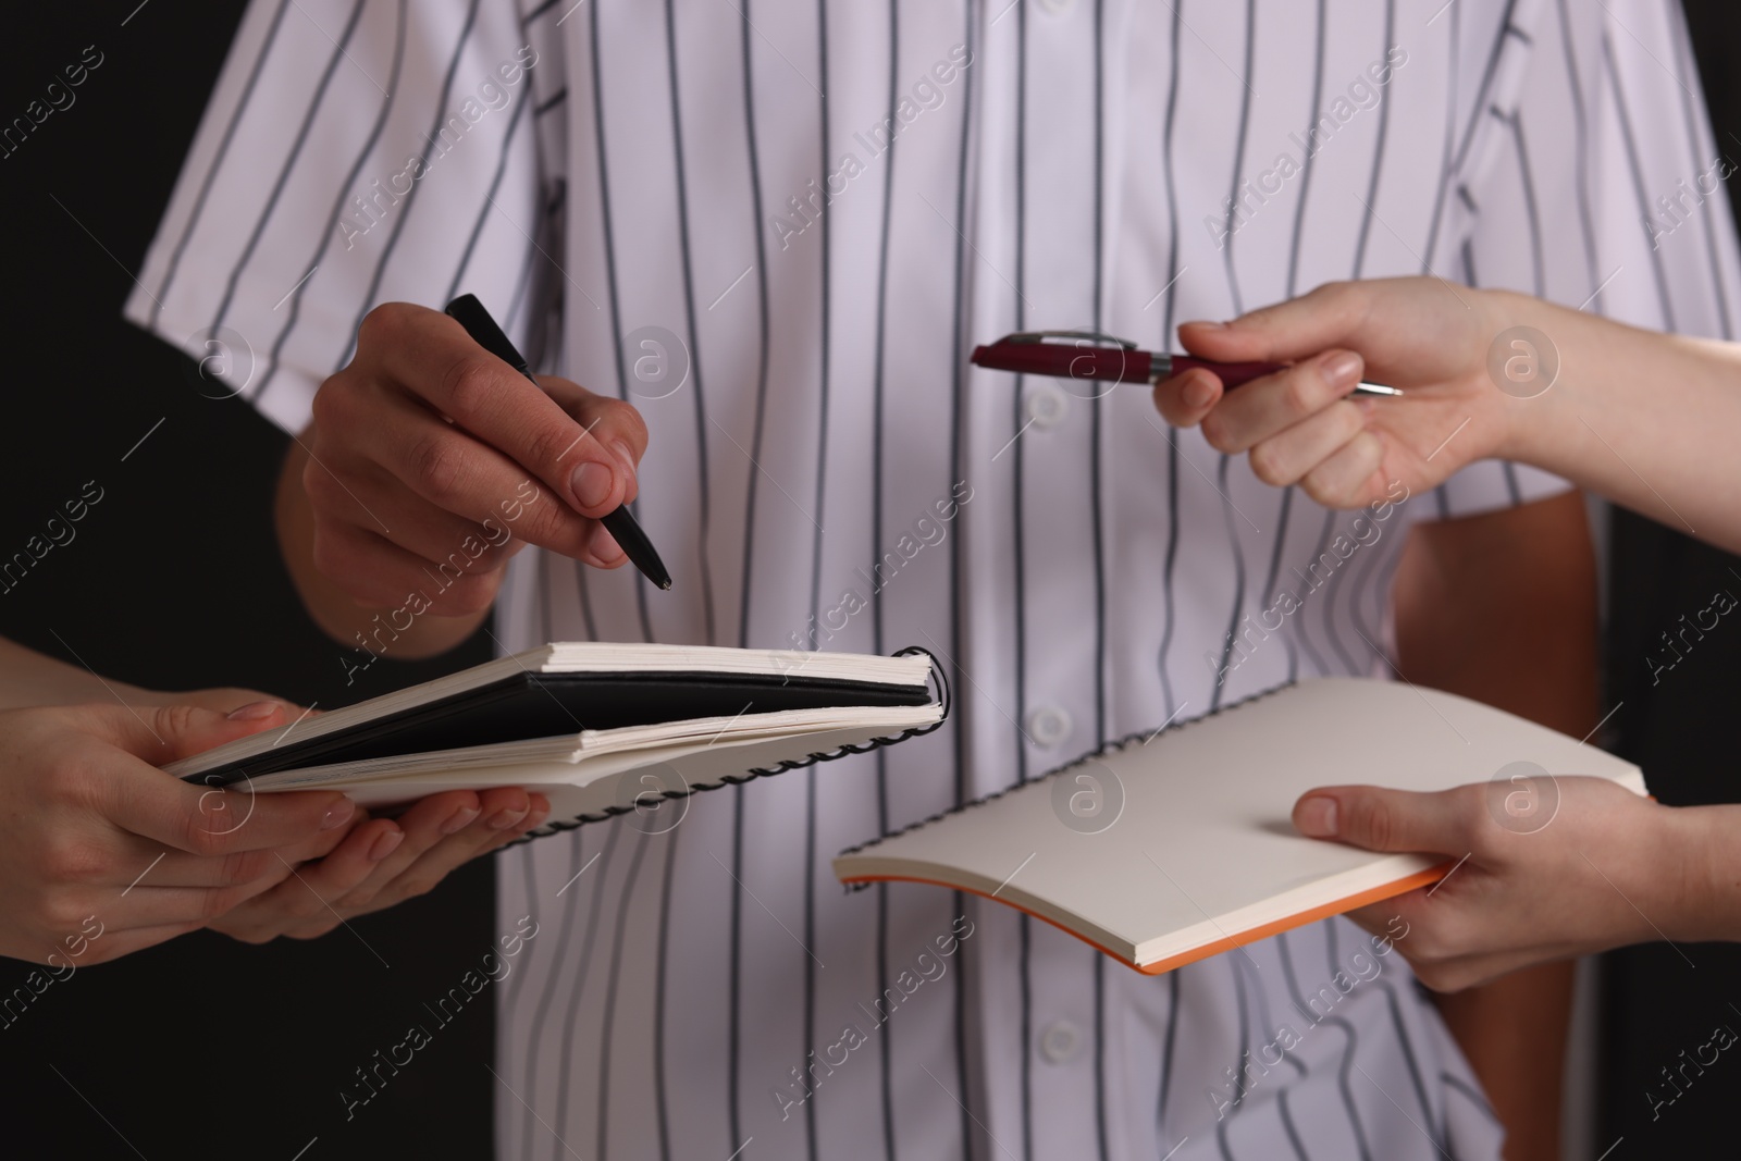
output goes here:
[[541, 924], [500, 999], [503, 1156], [1492, 1158], [1443, 1025], [1344, 921], [1144, 978], [827, 863], [1107, 738], [1384, 672], [1405, 526], [1558, 487], [1478, 465], [1361, 531], [1147, 392], [965, 348], [1168, 346], [1428, 268], [1727, 336], [1713, 158], [1666, 0], [258, 0], [127, 312], [195, 353], [228, 327], [296, 428], [369, 306], [474, 291], [641, 407], [677, 580], [524, 554], [503, 648], [952, 672], [937, 735], [501, 856], [501, 914]]

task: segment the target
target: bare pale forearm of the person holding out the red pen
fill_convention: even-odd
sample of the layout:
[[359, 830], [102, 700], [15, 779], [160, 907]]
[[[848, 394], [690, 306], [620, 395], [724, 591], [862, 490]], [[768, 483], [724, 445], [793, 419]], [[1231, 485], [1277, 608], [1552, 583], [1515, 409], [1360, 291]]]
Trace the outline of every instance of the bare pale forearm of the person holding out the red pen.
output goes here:
[[1518, 294], [1502, 325], [1532, 325], [1560, 357], [1541, 397], [1504, 400], [1499, 454], [1539, 465], [1670, 527], [1741, 550], [1741, 346], [1663, 336]]

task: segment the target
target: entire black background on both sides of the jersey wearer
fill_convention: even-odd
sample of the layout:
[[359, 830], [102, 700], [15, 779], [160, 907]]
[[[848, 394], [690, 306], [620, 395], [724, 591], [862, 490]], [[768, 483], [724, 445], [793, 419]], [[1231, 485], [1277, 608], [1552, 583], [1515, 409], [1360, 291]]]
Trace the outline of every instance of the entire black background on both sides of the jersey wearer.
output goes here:
[[[240, 5], [136, 2], [31, 5], [24, 19], [14, 9], [0, 44], [0, 124], [85, 45], [104, 56], [77, 103], [0, 160], [12, 287], [0, 557], [85, 480], [104, 489], [77, 540], [0, 595], [0, 632], [138, 684], [252, 686], [322, 707], [484, 660], [481, 635], [434, 663], [383, 661], [346, 688], [341, 651], [301, 611], [266, 519], [286, 437], [245, 402], [202, 395], [190, 360], [120, 320], [127, 272], [141, 265], [240, 16]], [[1724, 0], [1687, 0], [1687, 10], [1717, 138], [1741, 157], [1731, 136], [1741, 134], [1731, 80], [1741, 10]], [[1724, 621], [1656, 686], [1644, 661], [1657, 634], [1717, 588], [1741, 595], [1741, 562], [1619, 513], [1610, 567], [1617, 748], [1666, 802], [1741, 797], [1731, 742], [1741, 628]], [[0, 1138], [68, 1158], [487, 1156], [487, 992], [434, 1029], [353, 1119], [339, 1090], [409, 1023], [430, 1023], [421, 1003], [479, 964], [498, 935], [493, 891], [486, 860], [322, 940], [247, 947], [198, 933], [80, 968], [0, 1029]], [[1741, 1010], [1729, 1008], [1741, 1006], [1738, 952], [1649, 945], [1609, 957], [1602, 1145], [1624, 1137], [1612, 1161], [1732, 1154], [1741, 1060], [1722, 1057], [1657, 1119], [1645, 1090], [1715, 1025], [1741, 1030]], [[0, 994], [23, 975], [0, 961]]]

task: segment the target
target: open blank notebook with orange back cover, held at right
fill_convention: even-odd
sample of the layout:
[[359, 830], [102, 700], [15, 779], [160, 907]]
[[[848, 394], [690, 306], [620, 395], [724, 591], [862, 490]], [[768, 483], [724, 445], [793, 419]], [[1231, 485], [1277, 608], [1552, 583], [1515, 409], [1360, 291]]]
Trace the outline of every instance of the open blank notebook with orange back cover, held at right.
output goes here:
[[1501, 710], [1407, 684], [1285, 686], [970, 802], [834, 860], [846, 884], [914, 881], [1008, 903], [1146, 973], [1402, 895], [1454, 863], [1304, 839], [1313, 787], [1490, 782], [1496, 820], [1551, 823], [1556, 783], [1645, 794], [1638, 768]]

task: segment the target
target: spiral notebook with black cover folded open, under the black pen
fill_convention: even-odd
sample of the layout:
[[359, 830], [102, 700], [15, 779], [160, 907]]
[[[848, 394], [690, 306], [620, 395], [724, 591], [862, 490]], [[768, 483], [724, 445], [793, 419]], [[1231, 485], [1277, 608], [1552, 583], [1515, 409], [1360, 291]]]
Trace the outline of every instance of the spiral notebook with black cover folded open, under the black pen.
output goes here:
[[526, 787], [550, 799], [550, 822], [536, 834], [552, 834], [928, 733], [947, 705], [923, 649], [884, 658], [564, 642], [165, 769], [237, 790], [343, 790], [371, 808], [437, 790]]

